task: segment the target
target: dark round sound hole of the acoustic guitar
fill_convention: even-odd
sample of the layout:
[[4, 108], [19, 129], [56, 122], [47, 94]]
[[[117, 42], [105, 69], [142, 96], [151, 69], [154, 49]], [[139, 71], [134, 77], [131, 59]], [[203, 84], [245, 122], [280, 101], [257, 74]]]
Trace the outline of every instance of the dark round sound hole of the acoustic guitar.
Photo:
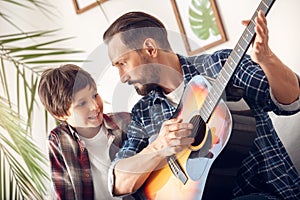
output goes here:
[[206, 125], [200, 115], [195, 115], [190, 120], [190, 123], [193, 124], [194, 128], [192, 130], [192, 137], [195, 138], [192, 146], [198, 146], [204, 139], [206, 132]]

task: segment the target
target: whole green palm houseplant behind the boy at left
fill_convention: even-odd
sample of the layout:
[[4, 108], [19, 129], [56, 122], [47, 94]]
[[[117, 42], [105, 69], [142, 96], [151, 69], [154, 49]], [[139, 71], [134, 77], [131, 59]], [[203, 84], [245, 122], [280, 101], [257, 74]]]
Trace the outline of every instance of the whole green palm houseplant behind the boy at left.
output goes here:
[[[0, 18], [15, 32], [0, 32], [0, 198], [45, 199], [48, 160], [31, 134], [39, 75], [48, 64], [77, 62], [58, 58], [81, 51], [58, 47], [71, 38], [49, 40], [48, 36], [59, 30], [23, 31], [6, 10], [38, 9], [51, 16], [52, 5], [46, 1], [4, 0], [2, 4]], [[45, 115], [41, 123], [47, 123]]]

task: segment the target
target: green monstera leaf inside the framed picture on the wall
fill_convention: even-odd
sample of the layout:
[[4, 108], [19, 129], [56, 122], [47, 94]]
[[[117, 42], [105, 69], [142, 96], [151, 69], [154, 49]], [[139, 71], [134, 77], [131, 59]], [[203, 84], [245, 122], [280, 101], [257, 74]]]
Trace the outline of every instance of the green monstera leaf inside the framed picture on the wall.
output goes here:
[[209, 0], [192, 0], [189, 7], [189, 22], [193, 32], [201, 40], [207, 40], [211, 34], [219, 35]]

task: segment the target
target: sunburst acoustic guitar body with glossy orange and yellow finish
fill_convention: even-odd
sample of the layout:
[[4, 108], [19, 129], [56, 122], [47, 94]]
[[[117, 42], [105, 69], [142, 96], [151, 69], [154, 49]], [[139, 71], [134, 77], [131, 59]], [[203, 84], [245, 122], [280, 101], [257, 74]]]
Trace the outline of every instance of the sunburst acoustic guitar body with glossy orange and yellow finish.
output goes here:
[[[180, 112], [184, 122], [199, 117], [203, 102], [210, 89], [209, 82], [202, 76], [195, 76], [186, 86], [181, 99]], [[180, 181], [168, 164], [152, 172], [143, 186], [146, 199], [201, 199], [209, 169], [229, 140], [232, 119], [226, 104], [221, 100], [216, 105], [208, 122], [191, 122], [196, 129], [197, 143], [176, 154], [176, 159], [187, 175], [186, 183]], [[196, 123], [196, 124], [195, 124]], [[193, 129], [193, 130], [194, 130]], [[216, 191], [217, 192], [217, 191]]]

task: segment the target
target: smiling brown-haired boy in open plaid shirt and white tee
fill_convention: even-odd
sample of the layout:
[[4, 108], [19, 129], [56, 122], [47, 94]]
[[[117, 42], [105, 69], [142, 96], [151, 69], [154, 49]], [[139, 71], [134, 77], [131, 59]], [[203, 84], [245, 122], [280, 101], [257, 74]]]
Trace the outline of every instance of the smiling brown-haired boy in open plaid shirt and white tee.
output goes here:
[[108, 193], [107, 172], [130, 114], [103, 114], [95, 81], [76, 65], [45, 70], [38, 94], [61, 122], [48, 138], [55, 199], [115, 199]]

